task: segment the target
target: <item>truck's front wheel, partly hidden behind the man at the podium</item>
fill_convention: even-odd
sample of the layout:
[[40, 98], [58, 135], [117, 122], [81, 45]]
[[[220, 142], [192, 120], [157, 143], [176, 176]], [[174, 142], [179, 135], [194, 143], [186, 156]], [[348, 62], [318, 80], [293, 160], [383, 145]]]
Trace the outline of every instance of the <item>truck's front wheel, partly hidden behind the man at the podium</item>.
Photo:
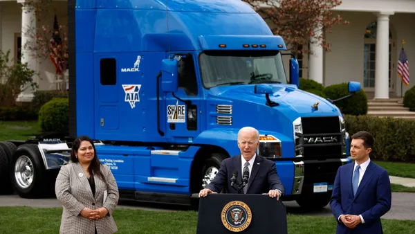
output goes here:
[[223, 159], [226, 159], [227, 156], [224, 154], [211, 154], [208, 159], [205, 160], [202, 166], [202, 178], [201, 186], [199, 188], [203, 189], [213, 180], [216, 174], [221, 168], [221, 163]]

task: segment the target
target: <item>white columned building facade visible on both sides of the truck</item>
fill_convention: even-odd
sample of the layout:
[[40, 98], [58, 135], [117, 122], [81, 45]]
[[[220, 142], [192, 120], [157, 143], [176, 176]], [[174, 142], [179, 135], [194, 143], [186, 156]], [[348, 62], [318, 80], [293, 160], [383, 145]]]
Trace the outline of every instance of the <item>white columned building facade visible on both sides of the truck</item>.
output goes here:
[[[39, 90], [57, 89], [50, 73], [55, 73], [49, 59], [39, 61], [33, 57], [21, 57], [22, 46], [30, 38], [24, 35], [27, 26], [33, 26], [35, 14], [22, 7], [25, 0], [0, 0], [0, 50], [14, 60], [28, 62], [39, 76], [33, 78]], [[59, 24], [67, 24], [67, 1], [53, 1], [48, 21], [53, 26], [56, 13]], [[341, 82], [358, 81], [368, 98], [387, 99], [400, 97], [415, 84], [415, 0], [342, 0], [334, 9], [347, 26], [335, 26], [326, 34], [331, 42], [331, 52], [311, 45], [312, 55], [299, 57], [300, 77], [315, 80], [328, 86]], [[36, 25], [38, 28], [41, 25]], [[409, 87], [401, 85], [397, 66], [402, 41], [409, 60], [409, 71], [414, 71]], [[49, 74], [49, 75], [48, 75]], [[402, 90], [401, 90], [402, 87]], [[19, 96], [21, 101], [33, 98], [33, 91], [26, 89]]]

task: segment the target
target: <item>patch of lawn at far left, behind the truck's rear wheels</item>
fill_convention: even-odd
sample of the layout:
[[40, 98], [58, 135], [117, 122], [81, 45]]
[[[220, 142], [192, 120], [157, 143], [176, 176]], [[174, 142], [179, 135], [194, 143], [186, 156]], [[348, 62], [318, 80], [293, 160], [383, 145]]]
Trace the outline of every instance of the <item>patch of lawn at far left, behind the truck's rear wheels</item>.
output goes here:
[[27, 140], [40, 132], [37, 121], [0, 121], [0, 141]]

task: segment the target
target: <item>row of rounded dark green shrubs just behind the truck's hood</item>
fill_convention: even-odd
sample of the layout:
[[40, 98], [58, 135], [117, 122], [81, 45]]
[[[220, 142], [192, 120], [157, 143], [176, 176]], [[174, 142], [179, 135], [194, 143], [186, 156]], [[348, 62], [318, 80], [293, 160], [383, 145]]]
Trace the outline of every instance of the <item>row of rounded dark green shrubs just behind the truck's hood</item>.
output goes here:
[[[306, 80], [304, 78], [299, 79], [299, 89], [314, 93], [322, 98], [329, 98], [336, 100], [344, 96], [349, 95], [349, 87], [347, 83], [333, 84], [328, 87], [323, 87], [322, 84], [315, 82], [314, 80]], [[350, 114], [353, 116], [367, 114], [367, 96], [365, 91], [360, 90], [355, 95], [344, 98], [335, 102], [342, 114]]]

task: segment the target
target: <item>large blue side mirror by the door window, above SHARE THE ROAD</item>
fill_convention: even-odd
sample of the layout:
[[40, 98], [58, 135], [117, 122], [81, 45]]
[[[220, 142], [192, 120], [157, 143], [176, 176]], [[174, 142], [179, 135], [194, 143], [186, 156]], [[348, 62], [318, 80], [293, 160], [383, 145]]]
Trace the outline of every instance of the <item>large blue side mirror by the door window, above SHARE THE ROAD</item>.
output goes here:
[[178, 89], [177, 60], [165, 59], [161, 63], [161, 89], [165, 93], [174, 93]]

